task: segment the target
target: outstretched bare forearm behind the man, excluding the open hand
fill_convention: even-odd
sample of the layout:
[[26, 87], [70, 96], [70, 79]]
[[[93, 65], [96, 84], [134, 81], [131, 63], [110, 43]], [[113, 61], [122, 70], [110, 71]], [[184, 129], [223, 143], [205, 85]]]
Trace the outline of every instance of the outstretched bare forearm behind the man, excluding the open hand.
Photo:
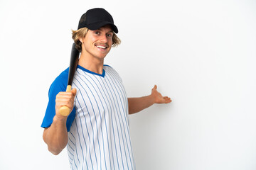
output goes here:
[[153, 96], [144, 96], [139, 98], [128, 98], [129, 114], [138, 113], [154, 104]]

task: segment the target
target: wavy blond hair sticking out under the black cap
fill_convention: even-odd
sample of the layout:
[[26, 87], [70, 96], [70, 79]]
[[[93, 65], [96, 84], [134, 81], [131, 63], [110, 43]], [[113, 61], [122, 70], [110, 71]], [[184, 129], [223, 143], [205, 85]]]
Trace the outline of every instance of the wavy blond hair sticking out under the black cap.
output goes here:
[[[72, 39], [75, 42], [76, 49], [81, 52], [82, 51], [82, 42], [80, 42], [80, 38], [85, 38], [86, 33], [88, 32], [88, 28], [80, 28], [79, 30], [72, 30]], [[113, 42], [112, 47], [117, 47], [121, 43], [121, 40], [117, 37], [117, 35], [113, 34]]]

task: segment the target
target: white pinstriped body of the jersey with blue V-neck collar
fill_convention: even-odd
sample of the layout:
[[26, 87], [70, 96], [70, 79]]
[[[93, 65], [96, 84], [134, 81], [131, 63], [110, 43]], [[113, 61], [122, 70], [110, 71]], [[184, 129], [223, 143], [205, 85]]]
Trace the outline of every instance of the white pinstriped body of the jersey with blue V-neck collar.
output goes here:
[[102, 75], [78, 67], [73, 80], [75, 120], [68, 133], [71, 169], [134, 169], [128, 101], [112, 67]]

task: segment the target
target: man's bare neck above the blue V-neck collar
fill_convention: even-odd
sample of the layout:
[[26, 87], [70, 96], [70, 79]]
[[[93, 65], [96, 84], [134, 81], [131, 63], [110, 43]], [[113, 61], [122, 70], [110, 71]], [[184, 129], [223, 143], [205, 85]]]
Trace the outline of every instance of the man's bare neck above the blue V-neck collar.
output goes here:
[[78, 64], [91, 72], [102, 74], [104, 59], [90, 57], [90, 55], [85, 55], [84, 52], [81, 52]]

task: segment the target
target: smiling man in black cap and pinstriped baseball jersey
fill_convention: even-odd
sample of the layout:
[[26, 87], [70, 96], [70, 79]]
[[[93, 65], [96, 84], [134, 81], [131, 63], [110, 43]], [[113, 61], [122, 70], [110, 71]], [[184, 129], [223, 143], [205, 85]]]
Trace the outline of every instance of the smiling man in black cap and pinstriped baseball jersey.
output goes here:
[[[171, 102], [156, 86], [149, 96], [127, 98], [119, 74], [104, 64], [111, 47], [120, 43], [116, 33], [110, 13], [103, 8], [88, 10], [73, 31], [81, 52], [73, 89], [63, 92], [68, 69], [50, 86], [43, 140], [53, 154], [67, 147], [71, 169], [135, 169], [128, 113]], [[70, 115], [60, 115], [61, 106], [71, 108]]]

